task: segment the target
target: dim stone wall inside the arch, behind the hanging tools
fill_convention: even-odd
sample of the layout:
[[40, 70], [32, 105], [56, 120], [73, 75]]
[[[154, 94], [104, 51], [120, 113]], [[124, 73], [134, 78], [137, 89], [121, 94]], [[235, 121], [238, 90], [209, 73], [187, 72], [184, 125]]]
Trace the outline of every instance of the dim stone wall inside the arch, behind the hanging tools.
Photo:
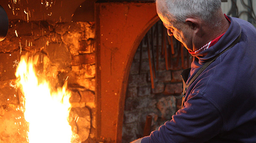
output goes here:
[[[160, 26], [158, 27], [159, 29], [162, 28], [162, 23], [160, 21], [157, 25]], [[151, 30], [149, 30], [149, 35], [151, 35], [153, 31], [155, 31], [155, 27], [157, 25], [155, 24], [151, 28]], [[161, 30], [159, 31], [160, 35], [158, 38], [160, 38], [159, 41], [161, 43]], [[169, 36], [167, 37], [170, 38]], [[175, 114], [178, 109], [181, 108], [181, 100], [177, 100], [176, 98], [174, 98], [174, 96], [180, 95], [182, 93], [182, 79], [180, 77], [180, 74], [184, 69], [184, 67], [182, 67], [181, 60], [179, 59], [179, 61], [176, 61], [178, 58], [180, 58], [178, 56], [180, 54], [178, 42], [173, 39], [173, 45], [176, 49], [175, 54], [171, 55], [172, 65], [168, 70], [166, 69], [165, 65], [165, 56], [164, 54], [160, 54], [159, 68], [158, 70], [156, 70], [156, 78], [154, 78], [154, 89], [152, 89], [148, 50], [147, 45], [145, 44], [147, 42], [145, 42], [145, 40], [146, 37], [144, 37], [141, 42], [141, 61], [140, 48], [138, 48], [130, 69], [124, 107], [124, 122], [122, 129], [123, 143], [129, 143], [130, 141], [141, 138], [143, 136], [143, 130], [147, 115], [152, 116], [151, 131], [154, 131], [158, 130], [160, 125], [164, 124], [166, 121], [171, 120], [171, 116]], [[156, 38], [154, 38], [153, 42], [154, 59], [156, 62], [157, 52], [155, 40]], [[167, 46], [169, 46], [168, 41], [166, 43]], [[162, 53], [161, 47], [161, 44], [159, 44], [159, 53]], [[151, 45], [150, 48], [152, 49]], [[185, 49], [182, 48], [182, 50], [184, 50], [184, 53], [186, 52]], [[169, 52], [169, 54], [171, 54], [171, 52]], [[177, 62], [179, 63], [176, 64]], [[185, 66], [189, 65], [186, 63]]]

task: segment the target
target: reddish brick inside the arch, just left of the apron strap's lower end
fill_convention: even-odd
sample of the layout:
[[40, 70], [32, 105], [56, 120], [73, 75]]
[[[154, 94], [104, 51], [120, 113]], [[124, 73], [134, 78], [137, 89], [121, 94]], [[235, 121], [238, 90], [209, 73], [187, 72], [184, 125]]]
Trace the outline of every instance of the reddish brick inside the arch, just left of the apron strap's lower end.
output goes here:
[[165, 85], [165, 95], [181, 94], [183, 90], [182, 83], [174, 83]]

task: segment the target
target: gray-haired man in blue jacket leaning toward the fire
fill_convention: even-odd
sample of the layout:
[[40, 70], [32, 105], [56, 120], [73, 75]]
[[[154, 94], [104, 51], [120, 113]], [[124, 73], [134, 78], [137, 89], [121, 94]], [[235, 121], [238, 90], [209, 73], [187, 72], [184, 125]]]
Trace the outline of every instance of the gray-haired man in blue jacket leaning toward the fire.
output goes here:
[[188, 84], [182, 109], [132, 143], [256, 143], [255, 27], [224, 15], [220, 0], [157, 0], [156, 5], [168, 34], [194, 58], [182, 73]]

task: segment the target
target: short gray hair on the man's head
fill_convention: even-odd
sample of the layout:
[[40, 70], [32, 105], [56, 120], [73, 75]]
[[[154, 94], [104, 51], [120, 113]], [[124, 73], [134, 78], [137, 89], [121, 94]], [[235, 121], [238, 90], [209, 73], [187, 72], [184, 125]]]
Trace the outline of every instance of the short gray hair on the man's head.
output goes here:
[[184, 23], [187, 18], [198, 18], [207, 24], [219, 24], [217, 11], [221, 0], [165, 0], [171, 21]]

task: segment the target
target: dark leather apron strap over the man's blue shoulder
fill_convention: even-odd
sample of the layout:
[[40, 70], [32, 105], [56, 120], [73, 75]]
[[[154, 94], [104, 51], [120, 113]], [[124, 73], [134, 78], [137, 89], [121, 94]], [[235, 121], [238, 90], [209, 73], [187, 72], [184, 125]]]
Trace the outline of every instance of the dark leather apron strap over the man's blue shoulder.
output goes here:
[[207, 61], [204, 66], [201, 67], [201, 69], [198, 70], [198, 72], [194, 75], [194, 77], [190, 80], [190, 82], [188, 84], [186, 84], [187, 79], [188, 79], [188, 75], [190, 73], [190, 69], [184, 69], [182, 71], [182, 82], [183, 82], [183, 92], [181, 95], [179, 96], [175, 96], [175, 98], [180, 99], [182, 98], [182, 108], [183, 108], [183, 104], [184, 104], [184, 97], [186, 95], [187, 92], [187, 88], [194, 82], [194, 80], [204, 71], [204, 69], [206, 69], [207, 66], [209, 66], [213, 61], [216, 60], [217, 57], [219, 57], [222, 53], [226, 52], [228, 49], [232, 48], [234, 45], [237, 44], [237, 42], [240, 40], [241, 37], [241, 33], [239, 34], [239, 36], [237, 37], [236, 40], [234, 40], [234, 42], [232, 42], [225, 50], [223, 50], [221, 53], [217, 54], [215, 57], [213, 57], [212, 59], [210, 59], [209, 61]]

